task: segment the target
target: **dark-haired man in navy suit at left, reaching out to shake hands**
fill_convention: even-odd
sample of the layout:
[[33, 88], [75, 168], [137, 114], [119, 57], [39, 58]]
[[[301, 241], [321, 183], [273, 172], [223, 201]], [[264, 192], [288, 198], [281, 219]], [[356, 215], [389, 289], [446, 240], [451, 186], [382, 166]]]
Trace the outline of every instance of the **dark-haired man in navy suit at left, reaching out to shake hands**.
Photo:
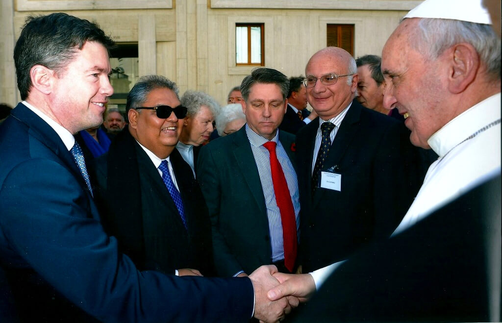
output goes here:
[[269, 308], [273, 266], [250, 279], [140, 272], [103, 231], [72, 134], [102, 122], [112, 45], [62, 13], [29, 17], [17, 41], [24, 101], [0, 126], [0, 285], [17, 313], [1, 320], [277, 320], [290, 308]]

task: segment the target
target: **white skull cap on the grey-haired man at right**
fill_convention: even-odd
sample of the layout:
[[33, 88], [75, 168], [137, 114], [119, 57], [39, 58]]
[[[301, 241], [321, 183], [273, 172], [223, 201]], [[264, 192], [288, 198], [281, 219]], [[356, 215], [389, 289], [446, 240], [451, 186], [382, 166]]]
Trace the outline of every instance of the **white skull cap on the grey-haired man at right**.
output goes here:
[[490, 15], [481, 0], [425, 0], [404, 18], [454, 19], [491, 25]]

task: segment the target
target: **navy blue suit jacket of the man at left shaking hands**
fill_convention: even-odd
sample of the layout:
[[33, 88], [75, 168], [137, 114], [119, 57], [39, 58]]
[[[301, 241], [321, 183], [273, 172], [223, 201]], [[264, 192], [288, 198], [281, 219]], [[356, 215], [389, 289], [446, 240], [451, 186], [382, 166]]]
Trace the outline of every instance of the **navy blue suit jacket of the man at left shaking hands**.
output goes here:
[[23, 104], [0, 125], [0, 210], [0, 268], [24, 320], [246, 321], [253, 311], [247, 278], [138, 271], [104, 233], [61, 138]]

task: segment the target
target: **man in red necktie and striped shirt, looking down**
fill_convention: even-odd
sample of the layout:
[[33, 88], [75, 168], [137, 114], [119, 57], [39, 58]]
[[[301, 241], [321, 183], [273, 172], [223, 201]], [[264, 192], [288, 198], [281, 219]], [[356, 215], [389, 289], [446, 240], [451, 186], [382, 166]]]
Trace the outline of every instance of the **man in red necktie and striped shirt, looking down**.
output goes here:
[[[300, 207], [294, 138], [277, 130], [288, 86], [282, 73], [254, 69], [240, 85], [245, 126], [200, 151], [197, 179], [209, 209], [220, 275], [246, 275], [271, 263], [280, 271], [295, 270]], [[284, 190], [276, 185], [276, 171], [283, 173]]]

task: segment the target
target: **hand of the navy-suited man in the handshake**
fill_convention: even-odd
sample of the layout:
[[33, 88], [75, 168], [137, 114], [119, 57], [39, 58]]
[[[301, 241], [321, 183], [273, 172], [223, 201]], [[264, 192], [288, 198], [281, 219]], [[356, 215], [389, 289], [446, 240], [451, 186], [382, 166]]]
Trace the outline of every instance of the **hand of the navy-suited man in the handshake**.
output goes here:
[[274, 265], [261, 266], [249, 275], [255, 288], [255, 317], [264, 322], [277, 322], [291, 312], [291, 306], [286, 298], [270, 301], [267, 292], [279, 285], [279, 281], [272, 275], [276, 274]]

